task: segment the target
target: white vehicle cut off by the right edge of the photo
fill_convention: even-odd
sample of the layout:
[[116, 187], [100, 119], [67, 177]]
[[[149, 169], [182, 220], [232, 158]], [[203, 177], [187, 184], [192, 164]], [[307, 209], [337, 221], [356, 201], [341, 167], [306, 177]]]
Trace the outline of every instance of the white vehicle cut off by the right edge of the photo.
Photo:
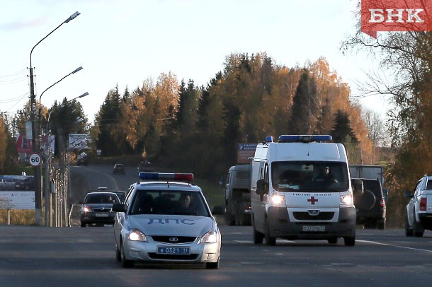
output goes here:
[[424, 175], [416, 184], [414, 194], [405, 192], [410, 200], [405, 214], [405, 235], [422, 237], [432, 230], [432, 176]]

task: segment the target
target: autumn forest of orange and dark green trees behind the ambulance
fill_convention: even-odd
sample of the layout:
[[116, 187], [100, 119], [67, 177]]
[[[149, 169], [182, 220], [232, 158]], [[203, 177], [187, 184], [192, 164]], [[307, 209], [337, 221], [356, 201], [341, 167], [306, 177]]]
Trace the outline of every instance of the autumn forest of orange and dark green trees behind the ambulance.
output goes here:
[[266, 53], [230, 54], [207, 86], [168, 73], [135, 90], [113, 88], [91, 135], [102, 156], [138, 154], [206, 177], [237, 163], [237, 144], [267, 135], [331, 134], [351, 163], [372, 164], [382, 134], [368, 124], [379, 123], [365, 121], [350, 93], [324, 58], [288, 68]]

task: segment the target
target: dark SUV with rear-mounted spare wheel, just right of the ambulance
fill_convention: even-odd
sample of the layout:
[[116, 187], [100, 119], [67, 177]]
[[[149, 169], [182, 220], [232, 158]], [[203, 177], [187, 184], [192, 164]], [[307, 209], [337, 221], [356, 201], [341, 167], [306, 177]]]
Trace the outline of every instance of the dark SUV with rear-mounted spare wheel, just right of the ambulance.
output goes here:
[[363, 192], [354, 195], [357, 224], [363, 225], [364, 228], [385, 229], [387, 208], [380, 180], [367, 178], [356, 180], [363, 182]]

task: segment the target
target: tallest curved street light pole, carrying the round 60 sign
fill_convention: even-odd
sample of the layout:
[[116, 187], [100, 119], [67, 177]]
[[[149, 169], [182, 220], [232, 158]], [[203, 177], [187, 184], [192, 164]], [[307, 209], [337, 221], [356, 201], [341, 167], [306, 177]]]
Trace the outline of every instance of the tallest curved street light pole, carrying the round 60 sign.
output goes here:
[[[35, 81], [34, 81], [34, 77], [33, 77], [33, 66], [32, 66], [32, 62], [31, 62], [31, 56], [33, 54], [33, 49], [35, 49], [36, 46], [39, 45], [40, 42], [42, 42], [43, 40], [45, 40], [46, 37], [48, 37], [49, 35], [51, 35], [55, 30], [57, 30], [58, 28], [60, 28], [61, 25], [63, 25], [64, 23], [69, 23], [69, 21], [73, 20], [74, 18], [76, 18], [76, 16], [79, 16], [79, 12], [76, 11], [75, 13], [73, 13], [71, 16], [69, 16], [69, 18], [67, 18], [65, 21], [63, 21], [63, 23], [61, 23], [60, 25], [57, 26], [57, 28], [55, 28], [54, 30], [52, 30], [48, 35], [46, 35], [45, 37], [43, 37], [38, 43], [36, 43], [36, 45], [33, 46], [33, 48], [30, 51], [30, 120], [31, 120], [31, 131], [32, 131], [32, 150], [33, 153], [39, 153], [39, 146], [38, 146], [38, 141], [36, 139], [36, 137], [38, 136], [37, 132], [38, 129], [36, 128], [36, 99], [35, 99]], [[42, 225], [42, 197], [40, 194], [40, 187], [41, 187], [41, 169], [40, 166], [36, 166], [34, 168], [34, 172], [35, 172], [35, 219], [36, 219], [36, 225]]]

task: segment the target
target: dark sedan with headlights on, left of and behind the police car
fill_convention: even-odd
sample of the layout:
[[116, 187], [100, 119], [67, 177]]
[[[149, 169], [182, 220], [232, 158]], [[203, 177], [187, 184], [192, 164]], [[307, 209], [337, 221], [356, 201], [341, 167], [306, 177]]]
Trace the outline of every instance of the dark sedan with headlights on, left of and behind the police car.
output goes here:
[[81, 227], [87, 224], [114, 224], [115, 212], [113, 204], [119, 204], [117, 194], [114, 192], [89, 192], [84, 201], [81, 201]]

